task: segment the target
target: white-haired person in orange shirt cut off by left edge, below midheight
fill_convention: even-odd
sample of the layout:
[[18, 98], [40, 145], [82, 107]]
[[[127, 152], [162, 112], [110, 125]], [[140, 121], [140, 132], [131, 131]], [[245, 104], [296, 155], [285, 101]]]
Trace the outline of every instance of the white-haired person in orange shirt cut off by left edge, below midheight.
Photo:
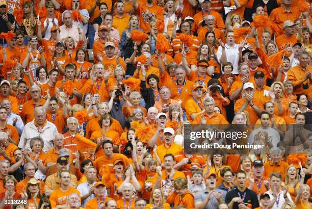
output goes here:
[[6, 159], [12, 162], [15, 149], [17, 149], [17, 146], [9, 141], [8, 134], [0, 132], [0, 161]]

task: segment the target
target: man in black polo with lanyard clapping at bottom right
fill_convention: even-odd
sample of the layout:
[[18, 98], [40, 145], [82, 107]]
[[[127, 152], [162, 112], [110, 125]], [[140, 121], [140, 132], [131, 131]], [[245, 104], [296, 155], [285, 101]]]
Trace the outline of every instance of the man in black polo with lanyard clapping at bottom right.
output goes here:
[[246, 172], [238, 171], [236, 181], [237, 188], [227, 192], [225, 196], [228, 207], [232, 209], [247, 208], [247, 205], [250, 205], [251, 208], [258, 207], [259, 202], [256, 193], [246, 188]]

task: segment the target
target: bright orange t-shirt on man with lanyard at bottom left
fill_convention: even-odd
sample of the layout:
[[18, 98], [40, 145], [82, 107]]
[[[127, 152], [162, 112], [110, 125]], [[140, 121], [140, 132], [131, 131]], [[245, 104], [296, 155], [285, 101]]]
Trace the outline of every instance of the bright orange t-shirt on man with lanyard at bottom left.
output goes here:
[[80, 196], [80, 192], [72, 187], [69, 187], [67, 191], [62, 191], [61, 188], [55, 190], [49, 198], [51, 207], [55, 208], [57, 205], [65, 205], [68, 196], [74, 192]]

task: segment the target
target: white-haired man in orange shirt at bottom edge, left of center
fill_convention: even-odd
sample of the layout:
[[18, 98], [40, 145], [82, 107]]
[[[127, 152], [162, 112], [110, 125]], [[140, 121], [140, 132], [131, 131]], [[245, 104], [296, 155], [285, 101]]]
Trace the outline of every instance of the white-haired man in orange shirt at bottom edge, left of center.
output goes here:
[[119, 208], [134, 208], [136, 199], [134, 196], [134, 188], [132, 184], [125, 183], [122, 187], [122, 199], [117, 200], [117, 207]]

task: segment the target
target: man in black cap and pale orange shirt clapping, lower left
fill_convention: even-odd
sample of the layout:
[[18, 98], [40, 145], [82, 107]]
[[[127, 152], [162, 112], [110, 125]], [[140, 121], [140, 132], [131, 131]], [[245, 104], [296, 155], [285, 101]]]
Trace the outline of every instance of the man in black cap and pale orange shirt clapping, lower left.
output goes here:
[[[68, 189], [68, 187], [72, 187], [72, 188], [76, 188], [77, 187], [77, 177], [75, 175], [71, 174], [67, 170], [67, 164], [68, 164], [67, 163], [67, 159], [65, 157], [60, 157], [58, 159], [58, 163], [57, 163], [58, 172], [48, 176], [45, 179], [44, 194], [45, 194], [46, 197], [49, 197], [51, 195], [51, 193], [57, 191], [61, 187], [63, 187], [63, 188], [65, 187], [67, 189]], [[66, 180], [62, 179], [62, 175], [61, 174], [63, 172], [68, 173], [68, 174], [66, 174]], [[65, 185], [64, 185], [64, 181], [66, 181]], [[77, 192], [79, 193], [79, 191], [77, 191]]]

